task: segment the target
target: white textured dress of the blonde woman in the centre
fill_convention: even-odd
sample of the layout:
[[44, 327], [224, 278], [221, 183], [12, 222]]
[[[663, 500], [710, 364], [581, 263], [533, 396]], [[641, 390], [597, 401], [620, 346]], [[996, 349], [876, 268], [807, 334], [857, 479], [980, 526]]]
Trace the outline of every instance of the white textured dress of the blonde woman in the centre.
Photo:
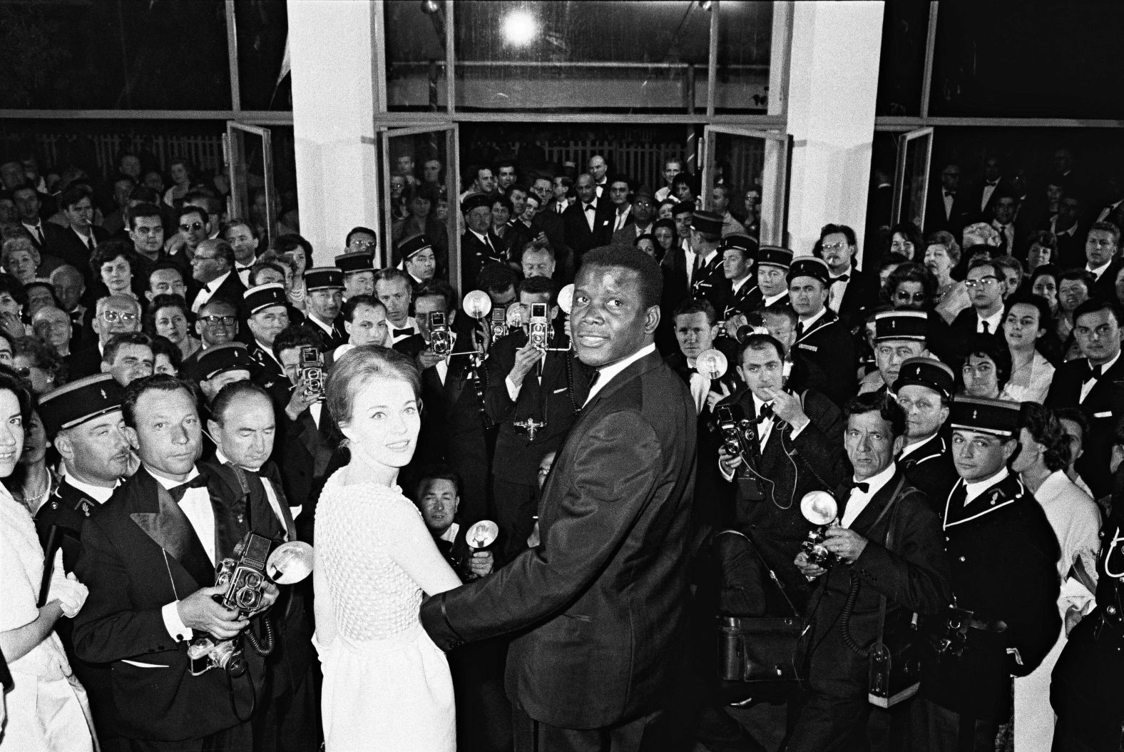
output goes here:
[[337, 471], [316, 508], [316, 644], [327, 752], [453, 752], [448, 661], [418, 620], [423, 591], [461, 582], [398, 487]]

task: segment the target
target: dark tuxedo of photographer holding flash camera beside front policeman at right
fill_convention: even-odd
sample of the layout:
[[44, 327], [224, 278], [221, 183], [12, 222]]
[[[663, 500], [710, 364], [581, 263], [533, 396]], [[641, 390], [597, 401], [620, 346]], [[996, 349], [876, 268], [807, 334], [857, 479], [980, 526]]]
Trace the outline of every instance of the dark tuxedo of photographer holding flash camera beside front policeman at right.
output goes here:
[[[856, 493], [850, 483], [836, 489], [841, 519]], [[789, 740], [791, 752], [830, 749], [849, 733], [864, 737], [869, 661], [849, 644], [869, 650], [882, 624], [887, 634], [907, 633], [914, 613], [941, 613], [952, 595], [941, 523], [899, 469], [846, 527], [867, 545], [855, 561], [839, 562], [816, 580], [805, 617], [808, 637], [800, 642], [812, 696]]]

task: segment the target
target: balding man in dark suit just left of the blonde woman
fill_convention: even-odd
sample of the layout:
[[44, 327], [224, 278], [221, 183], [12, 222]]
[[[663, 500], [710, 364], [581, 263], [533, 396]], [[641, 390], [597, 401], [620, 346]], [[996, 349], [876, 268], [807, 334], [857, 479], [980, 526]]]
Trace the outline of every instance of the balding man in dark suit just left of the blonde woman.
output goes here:
[[[200, 464], [210, 478], [219, 540], [241, 541], [254, 532], [275, 543], [297, 540], [294, 516], [281, 474], [269, 461], [275, 418], [270, 396], [251, 381], [227, 384], [210, 405], [207, 434], [216, 450]], [[312, 583], [282, 589], [266, 615], [275, 629], [273, 652], [266, 659], [270, 681], [254, 714], [259, 749], [317, 752], [320, 748], [319, 698], [312, 650]]]

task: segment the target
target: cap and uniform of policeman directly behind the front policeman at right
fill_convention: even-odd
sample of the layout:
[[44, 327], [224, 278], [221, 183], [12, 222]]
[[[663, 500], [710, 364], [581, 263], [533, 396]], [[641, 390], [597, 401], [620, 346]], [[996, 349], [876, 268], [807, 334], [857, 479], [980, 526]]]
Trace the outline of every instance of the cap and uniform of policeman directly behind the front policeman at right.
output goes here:
[[[894, 391], [901, 387], [916, 384], [932, 390], [942, 404], [951, 404], [957, 379], [952, 369], [932, 357], [910, 357], [901, 364], [898, 380], [894, 382]], [[942, 426], [943, 428], [943, 426]], [[898, 456], [898, 465], [905, 471], [906, 478], [916, 488], [926, 490], [930, 500], [934, 500], [934, 511], [941, 514], [949, 491], [960, 479], [957, 466], [952, 462], [952, 452], [942, 432], [933, 434], [919, 444], [907, 446]]]

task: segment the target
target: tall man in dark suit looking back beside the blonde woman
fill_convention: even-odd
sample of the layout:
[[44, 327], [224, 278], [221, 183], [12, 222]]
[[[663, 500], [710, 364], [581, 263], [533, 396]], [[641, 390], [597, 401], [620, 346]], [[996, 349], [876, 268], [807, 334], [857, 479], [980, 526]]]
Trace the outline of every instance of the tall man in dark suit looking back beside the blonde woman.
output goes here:
[[529, 627], [507, 659], [520, 752], [664, 749], [689, 599], [696, 417], [655, 351], [661, 284], [641, 251], [587, 255], [570, 320], [597, 377], [543, 488], [542, 544], [422, 608], [445, 647]]

